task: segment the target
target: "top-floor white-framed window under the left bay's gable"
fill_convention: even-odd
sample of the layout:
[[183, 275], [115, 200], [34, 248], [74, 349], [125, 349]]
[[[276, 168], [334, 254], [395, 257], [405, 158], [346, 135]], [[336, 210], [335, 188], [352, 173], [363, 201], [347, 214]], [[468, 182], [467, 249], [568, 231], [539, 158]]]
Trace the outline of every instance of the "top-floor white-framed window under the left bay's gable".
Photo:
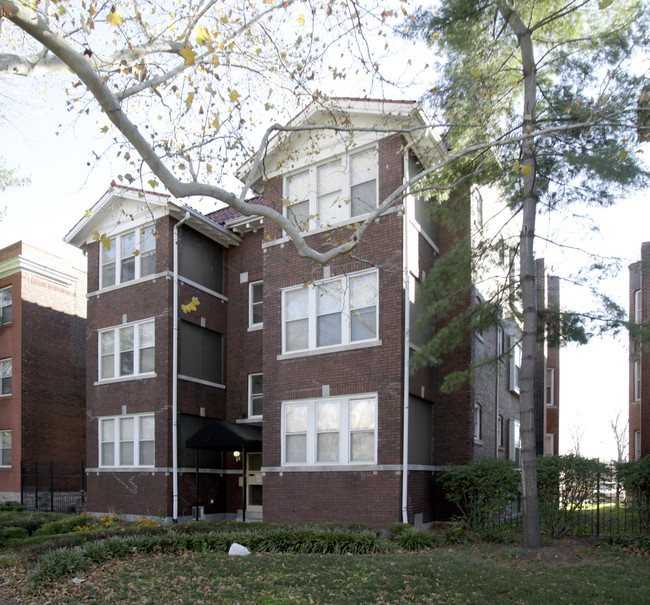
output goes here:
[[156, 231], [153, 225], [111, 237], [100, 244], [100, 288], [153, 275]]

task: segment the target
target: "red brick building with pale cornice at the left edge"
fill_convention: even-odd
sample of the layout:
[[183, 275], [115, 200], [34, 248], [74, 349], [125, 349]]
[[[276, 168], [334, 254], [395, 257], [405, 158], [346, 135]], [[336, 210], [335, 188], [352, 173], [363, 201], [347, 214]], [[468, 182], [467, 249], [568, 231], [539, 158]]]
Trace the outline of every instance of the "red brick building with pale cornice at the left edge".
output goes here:
[[0, 500], [21, 462], [85, 457], [86, 274], [23, 242], [0, 250]]

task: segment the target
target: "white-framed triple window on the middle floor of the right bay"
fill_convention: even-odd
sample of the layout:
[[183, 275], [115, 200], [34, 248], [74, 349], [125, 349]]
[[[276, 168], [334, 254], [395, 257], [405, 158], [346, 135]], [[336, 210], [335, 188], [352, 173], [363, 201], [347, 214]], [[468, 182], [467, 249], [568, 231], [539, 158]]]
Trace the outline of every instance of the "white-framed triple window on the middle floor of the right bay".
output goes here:
[[362, 271], [282, 292], [285, 353], [376, 340], [377, 271]]

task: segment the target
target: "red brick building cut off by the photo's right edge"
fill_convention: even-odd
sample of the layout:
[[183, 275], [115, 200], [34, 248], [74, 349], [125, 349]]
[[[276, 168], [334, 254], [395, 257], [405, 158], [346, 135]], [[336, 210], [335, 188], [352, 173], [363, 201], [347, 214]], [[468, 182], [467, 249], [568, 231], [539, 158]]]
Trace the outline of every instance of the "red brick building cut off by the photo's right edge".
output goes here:
[[[650, 242], [641, 244], [641, 260], [629, 267], [630, 321], [640, 325], [647, 321], [650, 309]], [[630, 338], [629, 443], [630, 460], [650, 454], [650, 356]]]

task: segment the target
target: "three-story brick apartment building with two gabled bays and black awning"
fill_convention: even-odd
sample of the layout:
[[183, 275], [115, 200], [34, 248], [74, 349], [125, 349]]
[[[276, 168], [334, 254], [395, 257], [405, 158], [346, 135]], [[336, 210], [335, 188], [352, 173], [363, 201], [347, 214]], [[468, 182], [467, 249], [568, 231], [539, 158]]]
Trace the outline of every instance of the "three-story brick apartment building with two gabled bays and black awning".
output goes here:
[[[342, 105], [357, 126], [426, 126], [415, 103]], [[329, 119], [313, 106], [295, 124]], [[256, 202], [326, 247], [444, 153], [417, 132], [277, 139], [252, 175]], [[512, 349], [452, 395], [440, 370], [408, 371], [418, 283], [451, 237], [423, 204], [406, 196], [352, 254], [320, 266], [261, 217], [110, 189], [66, 238], [88, 256], [89, 511], [426, 524], [436, 469], [517, 460], [514, 324], [468, 336], [446, 361]], [[467, 220], [469, 231], [469, 209]]]

